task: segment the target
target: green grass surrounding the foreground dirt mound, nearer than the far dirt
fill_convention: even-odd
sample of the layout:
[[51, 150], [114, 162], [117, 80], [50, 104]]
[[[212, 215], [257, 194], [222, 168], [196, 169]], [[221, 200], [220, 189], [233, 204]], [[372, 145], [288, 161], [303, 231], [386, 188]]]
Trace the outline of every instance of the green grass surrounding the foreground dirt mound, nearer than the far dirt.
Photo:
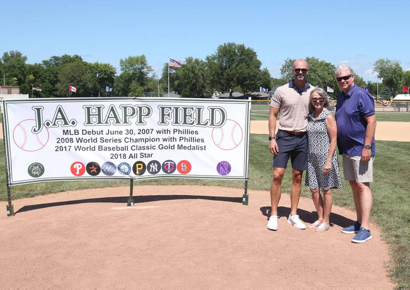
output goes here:
[[[253, 190], [269, 191], [272, 179], [272, 156], [268, 150], [266, 135], [252, 134], [250, 138], [249, 187]], [[389, 276], [397, 283], [397, 288], [410, 288], [410, 198], [408, 196], [408, 164], [410, 163], [410, 142], [378, 141], [374, 163], [372, 191], [374, 197], [372, 221], [382, 230], [382, 238], [388, 243], [391, 262], [388, 264]], [[3, 146], [0, 157], [4, 158]], [[3, 159], [4, 160], [4, 159]], [[341, 158], [339, 158], [341, 161]], [[7, 200], [4, 162], [0, 164], [0, 199]], [[290, 168], [290, 166], [288, 166]], [[341, 168], [341, 164], [340, 164]], [[282, 191], [290, 192], [290, 170], [286, 170]], [[155, 179], [136, 181], [134, 184], [196, 184], [219, 185], [222, 187], [243, 188], [243, 181], [199, 180], [199, 179]], [[304, 183], [304, 182], [303, 182]], [[105, 188], [125, 185], [129, 181], [66, 181], [43, 182], [12, 187], [12, 198], [31, 197], [40, 194]], [[135, 195], [138, 194], [135, 188]], [[309, 188], [303, 185], [302, 196], [311, 197]], [[252, 202], [252, 195], [250, 196]], [[350, 186], [343, 181], [341, 190], [334, 190], [334, 204], [354, 210]], [[1, 210], [1, 209], [0, 209]], [[6, 210], [6, 209], [3, 209]], [[0, 213], [1, 214], [1, 213]], [[5, 213], [4, 213], [5, 214]], [[370, 241], [371, 243], [371, 241]], [[377, 254], [377, 253], [375, 253]]]

